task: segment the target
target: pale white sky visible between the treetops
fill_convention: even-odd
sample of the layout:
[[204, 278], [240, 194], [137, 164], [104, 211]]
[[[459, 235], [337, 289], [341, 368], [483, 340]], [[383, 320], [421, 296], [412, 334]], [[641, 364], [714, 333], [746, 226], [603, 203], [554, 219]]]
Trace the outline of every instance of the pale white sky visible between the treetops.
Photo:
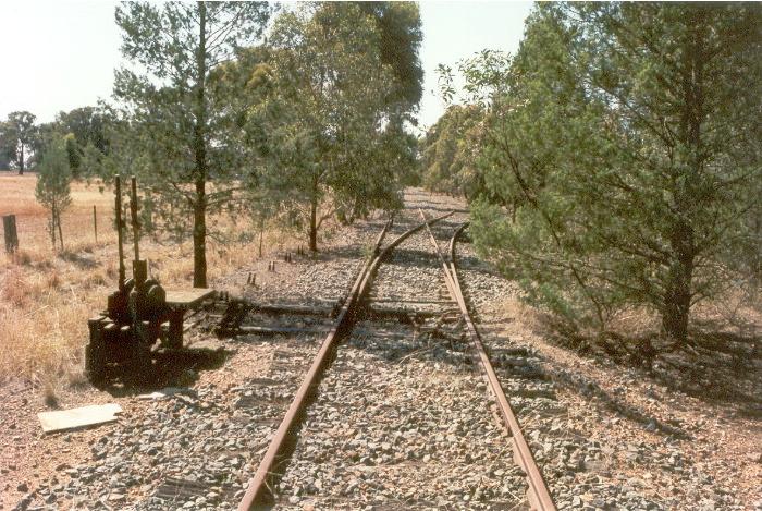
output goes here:
[[[0, 120], [28, 110], [38, 122], [61, 110], [109, 99], [113, 72], [121, 62], [121, 35], [112, 1], [0, 0]], [[422, 129], [444, 110], [435, 94], [440, 63], [484, 49], [515, 52], [531, 2], [421, 1], [425, 71], [420, 106]]]

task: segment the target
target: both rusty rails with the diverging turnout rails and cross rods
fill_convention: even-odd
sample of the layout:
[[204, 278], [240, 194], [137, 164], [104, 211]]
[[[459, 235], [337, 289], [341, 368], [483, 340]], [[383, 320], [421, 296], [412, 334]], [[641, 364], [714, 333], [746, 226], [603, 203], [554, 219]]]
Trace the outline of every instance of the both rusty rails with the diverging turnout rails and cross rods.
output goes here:
[[[429, 326], [429, 333], [437, 329], [441, 330], [443, 324], [446, 323], [456, 323], [460, 327], [465, 326], [467, 334], [471, 340], [472, 353], [478, 360], [484, 380], [492, 392], [493, 399], [497, 403], [505, 431], [507, 431], [511, 437], [509, 441], [514, 453], [514, 461], [526, 475], [527, 503], [531, 509], [556, 509], [542, 474], [532, 457], [531, 450], [524, 438], [518, 421], [511, 409], [508, 400], [503, 391], [497, 376], [495, 375], [490, 358], [483, 344], [481, 343], [481, 339], [468, 312], [466, 299], [458, 281], [457, 268], [455, 264], [455, 245], [457, 236], [462, 233], [463, 229], [466, 227], [466, 223], [458, 227], [452, 235], [450, 241], [450, 261], [446, 261], [440, 253], [439, 245], [432, 233], [431, 228], [433, 224], [451, 217], [452, 215], [453, 211], [450, 211], [435, 218], [427, 219], [423, 212], [420, 211], [420, 216], [422, 218], [421, 223], [406, 230], [384, 246], [383, 240], [388, 235], [392, 221], [390, 220], [385, 224], [372, 248], [372, 256], [368, 258], [357, 275], [355, 283], [344, 301], [331, 331], [325, 337], [320, 350], [311, 362], [305, 379], [303, 380], [294, 400], [288, 406], [288, 410], [286, 411], [278, 430], [275, 431], [267, 452], [259, 462], [257, 472], [250, 480], [244, 498], [239, 502], [239, 510], [269, 509], [271, 507], [279, 506], [280, 503], [284, 503], [282, 500], [279, 500], [275, 488], [279, 487], [280, 480], [287, 472], [288, 457], [294, 453], [296, 445], [299, 441], [298, 433], [303, 427], [304, 421], [308, 417], [306, 409], [311, 402], [315, 401], [316, 393], [320, 391], [319, 388], [321, 386], [321, 380], [324, 377], [324, 373], [329, 370], [331, 361], [336, 356], [335, 352], [339, 343], [352, 336], [353, 329], [359, 320], [372, 319], [378, 323], [379, 318], [384, 316], [383, 313], [381, 313], [381, 308], [371, 307], [371, 304], [373, 304], [374, 301], [378, 301], [381, 304], [396, 303], [397, 305], [429, 305], [433, 306], [434, 309], [439, 306], [439, 313], [437, 311], [431, 311], [430, 308], [429, 311], [407, 311], [403, 308], [402, 312], [400, 308], [395, 309], [397, 319], [408, 320], [414, 325], [418, 323], [416, 325], [418, 327], [418, 331], [420, 331], [421, 327], [423, 326], [421, 318], [429, 318], [430, 320], [434, 319], [433, 327]], [[419, 231], [422, 232], [423, 230], [427, 231], [433, 246], [433, 253], [440, 261], [444, 283], [447, 290], [446, 295], [442, 296], [442, 293], [440, 293], [438, 296], [414, 297], [413, 300], [403, 300], [400, 297], [379, 299], [378, 295], [371, 296], [370, 291], [373, 285], [373, 281], [382, 267], [382, 264], [391, 258], [394, 250], [397, 248], [397, 246], [400, 246], [405, 240]], [[442, 308], [442, 305], [445, 307]], [[456, 311], [457, 314], [454, 314]], [[433, 330], [431, 330], [431, 328], [433, 328]], [[380, 333], [380, 331], [377, 333]], [[333, 501], [330, 504], [336, 506], [337, 502]], [[418, 502], [418, 506], [414, 504], [411, 507], [426, 507], [426, 502]]]

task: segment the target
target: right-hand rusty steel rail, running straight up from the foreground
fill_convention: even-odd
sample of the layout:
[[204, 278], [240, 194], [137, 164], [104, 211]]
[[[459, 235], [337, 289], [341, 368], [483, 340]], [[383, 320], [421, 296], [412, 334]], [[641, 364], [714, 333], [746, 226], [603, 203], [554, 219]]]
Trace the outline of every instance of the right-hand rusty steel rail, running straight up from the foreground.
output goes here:
[[[423, 211], [420, 211], [420, 215], [426, 220]], [[495, 374], [494, 368], [492, 367], [490, 357], [487, 354], [487, 351], [484, 350], [484, 344], [481, 342], [481, 337], [479, 336], [479, 332], [477, 331], [476, 326], [471, 320], [471, 316], [468, 312], [468, 306], [466, 305], [466, 300], [463, 294], [463, 289], [460, 288], [460, 282], [457, 278], [457, 267], [455, 264], [455, 243], [458, 235], [460, 234], [460, 232], [463, 232], [466, 226], [468, 226], [468, 222], [462, 224], [458, 229], [456, 229], [455, 233], [453, 234], [453, 238], [450, 240], [448, 267], [444, 260], [444, 257], [440, 253], [437, 239], [431, 232], [431, 229], [428, 229], [428, 224], [427, 229], [429, 230], [431, 243], [434, 245], [437, 255], [439, 256], [439, 259], [442, 263], [442, 269], [444, 271], [444, 279], [447, 282], [447, 288], [452, 293], [453, 300], [455, 300], [458, 306], [460, 307], [463, 319], [466, 323], [466, 327], [468, 328], [471, 342], [477, 354], [479, 355], [479, 362], [483, 370], [484, 378], [487, 379], [487, 382], [490, 386], [490, 389], [492, 390], [492, 393], [494, 394], [497, 401], [501, 415], [503, 417], [503, 423], [507, 430], [511, 433], [511, 437], [513, 439], [512, 446], [514, 452], [514, 461], [521, 467], [521, 470], [524, 470], [524, 472], [527, 475], [527, 500], [529, 501], [529, 506], [531, 507], [531, 509], [537, 509], [540, 511], [556, 511], [553, 498], [551, 497], [551, 494], [548, 490], [545, 479], [542, 477], [542, 473], [537, 466], [537, 462], [534, 461], [532, 451], [531, 449], [529, 449], [529, 445], [524, 438], [521, 426], [519, 425], [518, 419], [516, 418], [516, 414], [511, 407], [511, 403], [505, 397], [503, 386], [500, 384], [500, 379], [497, 378], [497, 375]]]

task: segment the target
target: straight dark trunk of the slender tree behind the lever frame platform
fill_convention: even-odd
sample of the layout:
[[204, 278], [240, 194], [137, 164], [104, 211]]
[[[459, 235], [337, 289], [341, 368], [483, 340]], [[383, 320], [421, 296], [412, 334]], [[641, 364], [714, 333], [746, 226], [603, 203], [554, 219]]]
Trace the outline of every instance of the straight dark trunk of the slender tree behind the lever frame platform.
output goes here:
[[207, 74], [207, 8], [198, 2], [199, 44], [196, 56], [196, 123], [194, 125], [193, 148], [196, 158], [196, 200], [194, 202], [193, 226], [193, 287], [207, 287], [207, 147], [206, 147], [206, 105], [205, 81]]

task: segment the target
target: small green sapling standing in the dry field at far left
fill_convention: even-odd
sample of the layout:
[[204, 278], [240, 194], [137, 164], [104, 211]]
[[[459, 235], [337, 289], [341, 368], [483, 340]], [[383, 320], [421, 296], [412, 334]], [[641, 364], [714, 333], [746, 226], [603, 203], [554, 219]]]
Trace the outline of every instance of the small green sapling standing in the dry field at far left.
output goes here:
[[63, 250], [63, 233], [61, 230], [61, 214], [71, 205], [70, 185], [72, 172], [69, 166], [66, 143], [57, 137], [47, 147], [44, 157], [37, 167], [37, 185], [35, 197], [37, 202], [50, 211], [48, 230], [56, 247], [56, 231], [59, 233], [59, 242]]

